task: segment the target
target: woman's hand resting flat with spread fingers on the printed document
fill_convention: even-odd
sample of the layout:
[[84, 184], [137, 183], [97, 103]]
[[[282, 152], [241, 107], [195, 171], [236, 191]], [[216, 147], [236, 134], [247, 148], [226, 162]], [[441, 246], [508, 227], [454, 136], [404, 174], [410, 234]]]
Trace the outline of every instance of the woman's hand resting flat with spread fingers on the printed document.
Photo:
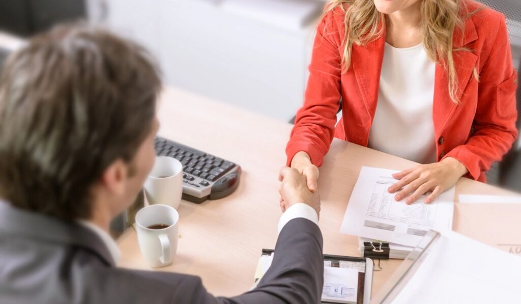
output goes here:
[[394, 196], [396, 201], [400, 201], [412, 193], [405, 200], [406, 204], [412, 204], [422, 194], [432, 191], [425, 200], [425, 203], [429, 204], [441, 192], [454, 186], [458, 179], [467, 172], [467, 168], [460, 161], [453, 157], [447, 157], [438, 163], [417, 165], [393, 174], [392, 177], [400, 179], [400, 181], [389, 187], [388, 190], [390, 193], [394, 193], [401, 189]]

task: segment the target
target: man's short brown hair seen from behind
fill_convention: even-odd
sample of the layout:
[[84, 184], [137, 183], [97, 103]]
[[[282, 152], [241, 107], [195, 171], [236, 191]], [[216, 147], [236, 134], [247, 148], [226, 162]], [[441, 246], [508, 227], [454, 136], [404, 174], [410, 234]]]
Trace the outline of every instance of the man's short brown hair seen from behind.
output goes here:
[[90, 188], [132, 159], [160, 89], [140, 46], [61, 26], [10, 56], [0, 79], [0, 198], [64, 220], [91, 215]]

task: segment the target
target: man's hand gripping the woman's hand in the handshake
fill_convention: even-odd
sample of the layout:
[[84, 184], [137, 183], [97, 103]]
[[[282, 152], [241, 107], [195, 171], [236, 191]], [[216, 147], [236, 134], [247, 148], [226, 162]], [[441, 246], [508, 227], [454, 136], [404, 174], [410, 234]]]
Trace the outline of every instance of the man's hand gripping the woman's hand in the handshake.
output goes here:
[[304, 203], [311, 206], [317, 214], [320, 214], [320, 197], [317, 192], [311, 192], [307, 188], [306, 177], [294, 168], [282, 167], [279, 180], [280, 208], [282, 212], [296, 203]]

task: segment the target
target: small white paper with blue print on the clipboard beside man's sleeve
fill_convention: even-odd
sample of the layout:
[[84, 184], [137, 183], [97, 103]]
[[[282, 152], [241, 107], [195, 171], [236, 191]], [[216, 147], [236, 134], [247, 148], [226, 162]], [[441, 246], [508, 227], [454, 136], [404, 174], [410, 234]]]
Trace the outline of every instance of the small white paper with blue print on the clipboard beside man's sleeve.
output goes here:
[[358, 270], [354, 268], [324, 267], [322, 301], [356, 303]]

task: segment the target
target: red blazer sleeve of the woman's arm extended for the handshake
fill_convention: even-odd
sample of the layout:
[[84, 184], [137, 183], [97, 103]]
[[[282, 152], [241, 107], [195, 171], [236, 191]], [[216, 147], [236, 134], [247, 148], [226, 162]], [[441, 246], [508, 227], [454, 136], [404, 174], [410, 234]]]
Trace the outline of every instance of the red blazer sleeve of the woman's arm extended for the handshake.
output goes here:
[[296, 114], [286, 147], [288, 166], [299, 151], [309, 154], [312, 163], [320, 166], [333, 140], [341, 96], [342, 39], [337, 24], [341, 14], [340, 7], [331, 10], [318, 25], [304, 105]]

